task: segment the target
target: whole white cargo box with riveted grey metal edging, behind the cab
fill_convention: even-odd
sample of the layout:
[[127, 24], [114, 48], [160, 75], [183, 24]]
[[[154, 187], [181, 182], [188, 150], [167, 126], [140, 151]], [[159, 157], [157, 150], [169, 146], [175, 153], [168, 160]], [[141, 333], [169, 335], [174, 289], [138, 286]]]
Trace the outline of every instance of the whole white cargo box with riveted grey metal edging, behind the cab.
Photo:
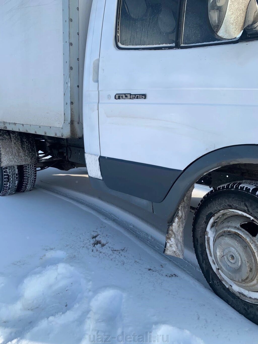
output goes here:
[[0, 127], [82, 137], [92, 0], [1, 0]]

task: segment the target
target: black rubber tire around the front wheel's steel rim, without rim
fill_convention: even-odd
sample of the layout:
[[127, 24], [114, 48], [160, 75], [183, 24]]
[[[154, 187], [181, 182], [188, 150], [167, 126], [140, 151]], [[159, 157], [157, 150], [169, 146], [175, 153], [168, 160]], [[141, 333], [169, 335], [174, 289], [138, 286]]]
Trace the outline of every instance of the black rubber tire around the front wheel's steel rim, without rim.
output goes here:
[[198, 205], [193, 220], [193, 244], [202, 273], [213, 291], [247, 319], [258, 324], [258, 303], [250, 303], [230, 291], [214, 272], [205, 246], [206, 227], [213, 214], [236, 209], [258, 219], [258, 183], [234, 182], [207, 193]]

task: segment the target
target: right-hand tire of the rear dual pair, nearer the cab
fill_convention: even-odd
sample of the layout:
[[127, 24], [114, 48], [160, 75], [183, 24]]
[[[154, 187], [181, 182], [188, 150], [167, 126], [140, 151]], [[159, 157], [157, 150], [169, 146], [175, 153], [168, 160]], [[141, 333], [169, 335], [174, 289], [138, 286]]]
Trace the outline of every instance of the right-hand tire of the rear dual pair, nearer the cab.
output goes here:
[[17, 192], [28, 192], [33, 189], [36, 183], [37, 170], [36, 165], [21, 165], [19, 169], [19, 183]]

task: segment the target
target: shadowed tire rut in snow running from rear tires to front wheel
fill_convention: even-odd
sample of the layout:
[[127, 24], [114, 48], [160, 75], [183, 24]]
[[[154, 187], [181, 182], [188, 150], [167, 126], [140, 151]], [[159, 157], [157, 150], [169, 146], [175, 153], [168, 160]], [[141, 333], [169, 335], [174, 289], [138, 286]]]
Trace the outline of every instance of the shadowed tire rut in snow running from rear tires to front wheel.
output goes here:
[[[179, 274], [181, 277], [187, 279], [189, 279], [189, 277], [192, 277], [193, 279], [190, 278], [192, 284], [200, 288], [205, 288], [213, 294], [208, 284], [204, 280], [200, 269], [197, 269], [186, 260], [175, 258], [172, 256], [166, 256], [163, 254], [164, 238], [161, 234], [158, 234], [157, 236], [157, 231], [150, 224], [147, 224], [133, 214], [119, 209], [114, 205], [108, 205], [110, 212], [106, 211], [100, 206], [94, 204], [94, 201], [96, 201], [94, 197], [85, 195], [85, 198], [87, 198], [88, 200], [84, 201], [81, 198], [78, 198], [78, 193], [76, 192], [67, 193], [66, 189], [64, 188], [56, 187], [55, 189], [53, 189], [52, 187], [48, 187], [44, 184], [48, 183], [40, 182], [40, 185], [38, 184], [37, 187], [39, 187], [44, 192], [57, 196], [62, 200], [70, 202], [75, 206], [83, 209], [84, 211], [90, 212], [91, 214], [99, 217], [101, 221], [122, 232], [124, 235], [134, 241], [138, 246], [140, 246], [141, 249], [146, 250], [152, 256], [154, 255], [155, 257], [157, 257], [158, 254], [161, 264], [166, 264], [168, 262], [170, 262], [170, 264], [172, 263], [172, 273], [176, 269], [176, 273]], [[106, 205], [104, 201], [97, 201], [101, 205]], [[114, 213], [117, 213], [120, 216], [117, 216]], [[130, 223], [130, 219], [133, 219], [137, 226]], [[140, 226], [144, 227], [145, 230], [139, 229]], [[147, 234], [146, 232], [150, 232], [153, 235]]]

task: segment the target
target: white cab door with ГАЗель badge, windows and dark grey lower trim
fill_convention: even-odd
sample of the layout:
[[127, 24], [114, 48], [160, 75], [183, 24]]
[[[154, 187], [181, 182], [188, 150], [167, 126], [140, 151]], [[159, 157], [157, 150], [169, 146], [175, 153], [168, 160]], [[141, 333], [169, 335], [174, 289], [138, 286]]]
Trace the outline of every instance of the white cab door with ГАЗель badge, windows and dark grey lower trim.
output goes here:
[[216, 39], [204, 3], [106, 3], [99, 137], [110, 189], [161, 202], [198, 157], [257, 141], [255, 134], [243, 136], [239, 121], [258, 125], [252, 73], [258, 42]]

